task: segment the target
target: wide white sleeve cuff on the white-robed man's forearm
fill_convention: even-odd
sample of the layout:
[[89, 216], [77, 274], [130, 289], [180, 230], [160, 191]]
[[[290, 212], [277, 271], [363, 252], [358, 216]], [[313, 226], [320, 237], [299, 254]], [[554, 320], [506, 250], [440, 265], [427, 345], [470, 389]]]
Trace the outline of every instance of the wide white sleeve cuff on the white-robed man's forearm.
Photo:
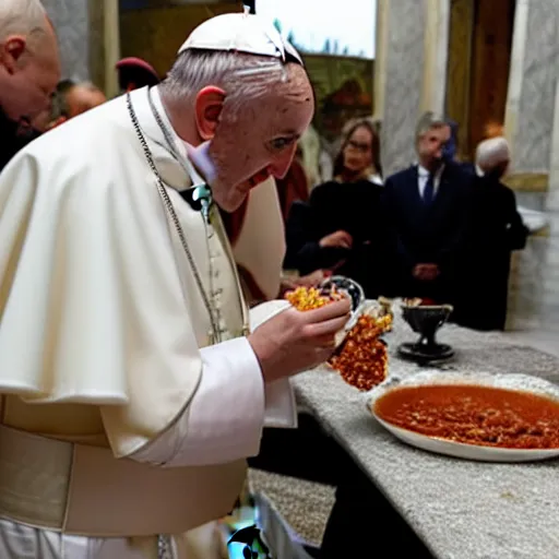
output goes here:
[[257, 455], [267, 423], [296, 426], [287, 379], [264, 385], [246, 337], [200, 353], [202, 378], [191, 404], [165, 432], [129, 456], [132, 460], [168, 467], [223, 464]]

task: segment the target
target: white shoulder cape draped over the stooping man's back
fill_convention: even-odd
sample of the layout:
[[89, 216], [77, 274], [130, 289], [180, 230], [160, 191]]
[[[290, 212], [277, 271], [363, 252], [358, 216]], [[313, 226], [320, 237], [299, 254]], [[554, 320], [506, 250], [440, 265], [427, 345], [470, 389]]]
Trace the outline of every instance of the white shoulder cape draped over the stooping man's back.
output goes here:
[[[132, 98], [186, 206], [173, 188], [189, 179], [159, 145], [146, 90]], [[205, 272], [200, 214], [180, 217]], [[0, 176], [0, 393], [100, 406], [117, 455], [163, 431], [197, 389], [210, 330], [176, 237], [124, 97], [19, 154]]]

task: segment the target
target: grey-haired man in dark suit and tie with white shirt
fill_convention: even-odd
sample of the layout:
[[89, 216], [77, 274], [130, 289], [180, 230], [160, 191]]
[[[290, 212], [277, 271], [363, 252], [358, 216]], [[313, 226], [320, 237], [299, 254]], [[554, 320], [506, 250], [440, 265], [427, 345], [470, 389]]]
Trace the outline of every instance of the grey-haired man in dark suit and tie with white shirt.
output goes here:
[[417, 165], [386, 180], [383, 210], [395, 295], [455, 300], [472, 179], [443, 156], [450, 136], [448, 122], [426, 112], [416, 129]]

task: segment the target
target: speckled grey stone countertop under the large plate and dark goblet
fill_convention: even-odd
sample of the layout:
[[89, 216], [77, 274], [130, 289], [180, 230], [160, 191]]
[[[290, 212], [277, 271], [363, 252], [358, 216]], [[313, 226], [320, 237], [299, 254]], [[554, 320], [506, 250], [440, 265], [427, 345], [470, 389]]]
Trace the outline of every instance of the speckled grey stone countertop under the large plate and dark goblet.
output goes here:
[[[396, 317], [386, 337], [391, 373], [419, 370], [395, 355], [400, 342], [415, 338]], [[456, 349], [448, 369], [510, 371], [559, 383], [558, 359], [509, 343], [507, 334], [445, 325], [438, 338]], [[366, 411], [367, 394], [332, 371], [306, 372], [294, 386], [299, 404], [344, 445], [436, 557], [559, 559], [559, 460], [489, 464], [430, 454], [386, 432]]]

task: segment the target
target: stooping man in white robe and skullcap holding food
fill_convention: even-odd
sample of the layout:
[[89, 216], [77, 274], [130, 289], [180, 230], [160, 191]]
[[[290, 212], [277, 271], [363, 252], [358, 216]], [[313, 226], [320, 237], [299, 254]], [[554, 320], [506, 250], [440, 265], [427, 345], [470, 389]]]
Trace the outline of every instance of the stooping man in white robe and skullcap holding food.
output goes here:
[[[218, 207], [288, 169], [313, 114], [295, 49], [209, 20], [166, 80], [72, 119], [0, 175], [0, 557], [191, 559], [289, 377], [346, 300], [250, 311]], [[207, 556], [205, 556], [207, 557]]]

